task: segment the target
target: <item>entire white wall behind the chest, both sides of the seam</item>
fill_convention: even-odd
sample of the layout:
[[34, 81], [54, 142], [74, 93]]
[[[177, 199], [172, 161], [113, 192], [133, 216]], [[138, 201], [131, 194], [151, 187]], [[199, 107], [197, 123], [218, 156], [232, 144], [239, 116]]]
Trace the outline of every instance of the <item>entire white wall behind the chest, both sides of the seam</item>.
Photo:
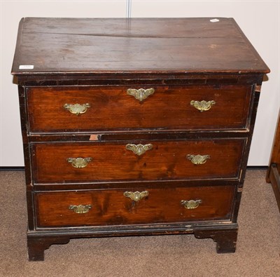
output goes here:
[[[0, 0], [1, 1], [1, 0]], [[10, 67], [22, 17], [125, 17], [123, 1], [1, 1], [0, 166], [22, 166], [22, 142], [17, 86]], [[279, 1], [145, 1], [132, 0], [133, 17], [235, 18], [269, 68], [249, 156], [249, 165], [268, 165], [280, 107]]]

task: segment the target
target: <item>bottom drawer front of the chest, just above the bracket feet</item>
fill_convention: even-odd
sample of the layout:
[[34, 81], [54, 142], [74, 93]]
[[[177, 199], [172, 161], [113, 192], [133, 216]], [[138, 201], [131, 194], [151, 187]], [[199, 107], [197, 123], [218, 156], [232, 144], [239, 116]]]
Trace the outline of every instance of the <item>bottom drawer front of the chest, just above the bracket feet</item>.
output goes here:
[[136, 191], [120, 189], [36, 193], [37, 227], [226, 220], [230, 219], [235, 196], [233, 186], [138, 189], [143, 196], [139, 201], [124, 196], [132, 197], [132, 192], [135, 196]]

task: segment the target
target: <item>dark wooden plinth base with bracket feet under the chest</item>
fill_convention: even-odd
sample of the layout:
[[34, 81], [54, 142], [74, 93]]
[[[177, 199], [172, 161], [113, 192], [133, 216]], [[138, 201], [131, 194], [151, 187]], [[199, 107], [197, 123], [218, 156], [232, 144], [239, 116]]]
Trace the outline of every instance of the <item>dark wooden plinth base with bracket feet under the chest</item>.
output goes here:
[[[38, 234], [36, 234], [38, 233]], [[153, 226], [137, 225], [123, 226], [122, 229], [68, 229], [61, 234], [57, 229], [45, 230], [40, 232], [27, 233], [27, 245], [29, 250], [29, 261], [43, 261], [44, 250], [52, 244], [68, 243], [70, 238], [97, 238], [104, 236], [156, 236], [172, 234], [194, 234], [197, 238], [212, 238], [217, 243], [218, 253], [235, 252], [237, 241], [237, 224], [227, 224], [226, 227], [212, 226], [211, 223], [201, 227], [200, 224], [193, 224], [192, 229], [186, 228], [185, 224], [158, 225]]]

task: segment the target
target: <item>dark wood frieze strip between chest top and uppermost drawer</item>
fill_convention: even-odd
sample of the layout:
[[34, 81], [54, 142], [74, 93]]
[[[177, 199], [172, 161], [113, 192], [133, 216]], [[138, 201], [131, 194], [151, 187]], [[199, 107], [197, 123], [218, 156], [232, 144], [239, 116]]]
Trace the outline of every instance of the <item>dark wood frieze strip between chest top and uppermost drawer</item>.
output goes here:
[[137, 79], [131, 79], [132, 76], [127, 72], [116, 74], [83, 74], [73, 75], [17, 75], [15, 82], [20, 86], [200, 86], [200, 85], [236, 85], [252, 84], [259, 86], [262, 84], [263, 74], [157, 74], [157, 72], [137, 72]]

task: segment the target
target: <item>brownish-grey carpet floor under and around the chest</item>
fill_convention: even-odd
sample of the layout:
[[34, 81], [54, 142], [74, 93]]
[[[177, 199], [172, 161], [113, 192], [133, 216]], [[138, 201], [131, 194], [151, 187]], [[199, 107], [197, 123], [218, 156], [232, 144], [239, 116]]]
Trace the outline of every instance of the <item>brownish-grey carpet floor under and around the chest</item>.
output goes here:
[[0, 276], [280, 276], [280, 214], [265, 170], [247, 170], [234, 254], [193, 235], [89, 238], [28, 262], [23, 172], [0, 172]]

